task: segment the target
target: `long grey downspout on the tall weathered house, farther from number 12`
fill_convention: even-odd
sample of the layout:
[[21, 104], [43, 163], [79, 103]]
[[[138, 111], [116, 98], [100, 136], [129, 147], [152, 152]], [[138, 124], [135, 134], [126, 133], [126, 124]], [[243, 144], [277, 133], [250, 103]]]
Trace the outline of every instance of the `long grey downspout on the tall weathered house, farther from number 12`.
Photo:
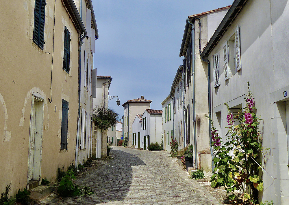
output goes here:
[[[194, 24], [187, 19], [188, 24], [192, 26], [191, 40], [192, 40], [192, 81], [193, 81], [193, 127], [194, 127], [194, 148], [195, 148], [195, 169], [198, 169], [198, 152], [197, 152], [197, 134], [196, 134], [196, 102], [195, 102], [195, 27]], [[190, 119], [189, 119], [190, 120]]]

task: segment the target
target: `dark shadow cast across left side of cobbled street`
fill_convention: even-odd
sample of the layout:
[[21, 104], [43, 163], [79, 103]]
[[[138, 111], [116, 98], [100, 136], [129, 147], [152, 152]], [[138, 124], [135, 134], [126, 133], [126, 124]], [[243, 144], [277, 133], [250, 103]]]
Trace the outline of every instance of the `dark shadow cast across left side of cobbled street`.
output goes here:
[[112, 149], [115, 154], [110, 163], [96, 168], [77, 183], [92, 188], [90, 196], [63, 198], [57, 204], [100, 204], [111, 201], [122, 201], [132, 182], [134, 166], [146, 165], [136, 155]]

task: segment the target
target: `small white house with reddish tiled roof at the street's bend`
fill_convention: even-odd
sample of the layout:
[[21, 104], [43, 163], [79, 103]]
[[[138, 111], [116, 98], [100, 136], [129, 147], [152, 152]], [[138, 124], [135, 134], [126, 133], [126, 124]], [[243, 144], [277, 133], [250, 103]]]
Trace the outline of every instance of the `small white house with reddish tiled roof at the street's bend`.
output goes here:
[[150, 110], [147, 109], [142, 114], [140, 144], [142, 144], [141, 147], [144, 150], [147, 150], [152, 142], [158, 142], [159, 144], [162, 142], [162, 113], [149, 113]]

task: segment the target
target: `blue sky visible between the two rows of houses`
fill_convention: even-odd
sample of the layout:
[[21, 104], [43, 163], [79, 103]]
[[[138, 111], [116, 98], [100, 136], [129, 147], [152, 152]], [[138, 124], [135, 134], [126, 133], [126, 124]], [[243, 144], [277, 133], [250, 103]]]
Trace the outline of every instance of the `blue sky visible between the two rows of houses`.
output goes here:
[[[150, 99], [162, 109], [177, 68], [186, 18], [231, 5], [233, 0], [92, 0], [99, 39], [95, 41], [97, 75], [112, 76], [109, 95]], [[108, 106], [123, 115], [116, 98]]]

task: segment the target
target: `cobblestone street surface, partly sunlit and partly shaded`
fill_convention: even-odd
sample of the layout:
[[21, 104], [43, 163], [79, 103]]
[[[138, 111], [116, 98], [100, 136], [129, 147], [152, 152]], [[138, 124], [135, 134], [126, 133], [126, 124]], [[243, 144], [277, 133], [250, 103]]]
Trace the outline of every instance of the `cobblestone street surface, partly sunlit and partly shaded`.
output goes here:
[[223, 204], [201, 183], [190, 179], [176, 158], [168, 157], [168, 152], [114, 146], [111, 153], [115, 155], [113, 160], [94, 166], [76, 181], [77, 185], [92, 188], [94, 194], [67, 198], [52, 195], [43, 202], [46, 205]]

